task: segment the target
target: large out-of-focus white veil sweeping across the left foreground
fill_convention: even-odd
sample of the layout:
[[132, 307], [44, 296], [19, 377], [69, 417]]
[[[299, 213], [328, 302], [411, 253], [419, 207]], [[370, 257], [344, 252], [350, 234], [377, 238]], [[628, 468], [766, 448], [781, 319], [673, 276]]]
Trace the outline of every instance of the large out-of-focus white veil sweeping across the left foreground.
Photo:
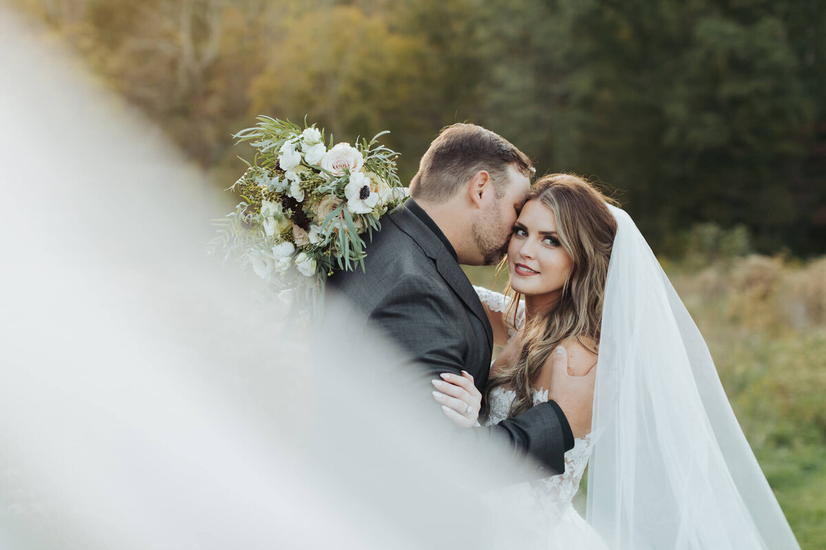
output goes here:
[[345, 317], [279, 336], [202, 256], [204, 176], [27, 25], [0, 6], [0, 548], [529, 548], [506, 453], [445, 449]]

